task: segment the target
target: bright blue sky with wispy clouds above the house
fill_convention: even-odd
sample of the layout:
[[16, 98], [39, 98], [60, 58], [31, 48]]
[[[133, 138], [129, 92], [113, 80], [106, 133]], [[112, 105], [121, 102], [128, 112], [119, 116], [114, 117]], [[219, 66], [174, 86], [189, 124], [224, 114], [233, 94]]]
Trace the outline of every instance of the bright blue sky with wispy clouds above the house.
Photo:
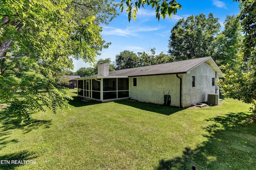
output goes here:
[[[103, 49], [99, 59], [111, 58], [115, 61], [116, 55], [121, 51], [129, 50], [134, 53], [147, 52], [150, 48], [156, 48], [156, 55], [164, 52], [168, 54], [168, 40], [170, 31], [175, 23], [181, 18], [187, 18], [191, 15], [213, 13], [214, 17], [219, 18], [224, 29], [224, 21], [227, 15], [239, 14], [238, 2], [232, 0], [176, 0], [182, 5], [182, 10], [178, 10], [176, 15], [170, 19], [156, 19], [154, 9], [140, 8], [136, 15], [136, 21], [128, 22], [128, 15], [125, 11], [114, 18], [108, 25], [100, 25], [103, 27], [102, 36], [106, 42], [112, 44], [108, 49]], [[118, 2], [118, 0], [116, 0]], [[118, 10], [119, 11], [119, 10]], [[74, 71], [81, 67], [90, 67], [90, 63], [84, 63], [82, 60], [74, 60]]]

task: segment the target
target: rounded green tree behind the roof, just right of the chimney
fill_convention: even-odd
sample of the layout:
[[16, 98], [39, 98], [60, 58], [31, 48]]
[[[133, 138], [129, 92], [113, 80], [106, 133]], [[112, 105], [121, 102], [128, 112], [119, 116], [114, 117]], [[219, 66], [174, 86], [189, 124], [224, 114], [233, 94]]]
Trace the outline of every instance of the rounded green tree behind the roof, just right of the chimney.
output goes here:
[[124, 50], [116, 55], [116, 69], [135, 68], [138, 66], [139, 57], [133, 52]]

